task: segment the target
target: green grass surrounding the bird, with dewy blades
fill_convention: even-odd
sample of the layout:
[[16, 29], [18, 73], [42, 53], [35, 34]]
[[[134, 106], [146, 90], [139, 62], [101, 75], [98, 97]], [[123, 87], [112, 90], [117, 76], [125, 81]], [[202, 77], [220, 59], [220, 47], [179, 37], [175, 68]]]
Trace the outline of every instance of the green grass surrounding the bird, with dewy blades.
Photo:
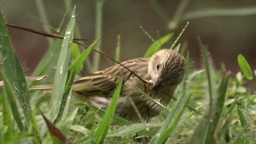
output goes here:
[[[70, 98], [71, 84], [83, 69], [83, 62], [100, 41], [97, 39], [80, 52], [72, 44], [75, 9], [70, 15], [65, 39], [54, 39], [49, 51], [35, 69], [33, 76], [49, 75], [40, 83], [53, 82], [51, 97], [42, 92], [28, 91], [20, 63], [12, 49], [8, 31], [0, 15], [0, 52], [4, 81], [0, 93], [0, 143], [253, 143], [256, 138], [256, 94], [244, 86], [245, 78], [255, 82], [249, 63], [238, 56], [241, 72], [234, 77], [225, 70], [214, 70], [212, 60], [203, 42], [199, 40], [204, 67], [190, 69], [187, 53], [186, 72], [177, 87], [174, 99], [167, 106], [151, 100], [162, 113], [148, 122], [134, 123], [114, 114], [122, 81], [107, 110]], [[2, 25], [3, 24], [3, 25]], [[159, 38], [145, 52], [150, 57], [173, 34]], [[119, 61], [120, 39], [113, 48]], [[186, 48], [182, 48], [186, 47]], [[99, 64], [99, 63], [98, 63]], [[53, 67], [56, 66], [54, 69]], [[94, 66], [92, 66], [93, 68]], [[13, 75], [17, 74], [17, 75]], [[137, 88], [138, 89], [138, 88]], [[138, 89], [138, 91], [140, 91]], [[49, 95], [49, 94], [48, 94]], [[71, 99], [71, 100], [70, 100]], [[44, 115], [42, 115], [41, 114]]]

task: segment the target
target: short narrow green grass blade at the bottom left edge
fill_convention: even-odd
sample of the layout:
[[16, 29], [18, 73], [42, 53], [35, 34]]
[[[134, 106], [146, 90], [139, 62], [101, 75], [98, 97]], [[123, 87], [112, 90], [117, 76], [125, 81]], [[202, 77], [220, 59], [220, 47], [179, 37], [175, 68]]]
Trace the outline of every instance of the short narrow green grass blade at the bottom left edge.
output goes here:
[[12, 125], [11, 110], [5, 93], [3, 94], [2, 124], [7, 126], [5, 137], [8, 137], [12, 134], [14, 125]]

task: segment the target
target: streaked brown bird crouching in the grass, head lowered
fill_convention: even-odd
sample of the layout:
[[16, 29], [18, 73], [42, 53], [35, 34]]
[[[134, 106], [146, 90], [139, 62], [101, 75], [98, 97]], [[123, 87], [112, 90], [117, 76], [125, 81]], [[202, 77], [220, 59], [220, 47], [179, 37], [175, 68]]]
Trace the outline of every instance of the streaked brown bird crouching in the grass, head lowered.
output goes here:
[[[146, 91], [147, 94], [166, 105], [173, 96], [177, 85], [183, 79], [185, 59], [175, 50], [163, 49], [150, 58], [135, 58], [122, 62], [122, 65], [142, 79], [152, 82], [149, 90]], [[107, 109], [117, 83], [123, 76], [124, 83], [116, 114], [129, 120], [156, 116], [159, 111], [154, 108], [154, 104], [145, 99], [134, 87], [137, 86], [144, 90], [145, 83], [131, 71], [121, 65], [97, 71], [75, 81], [72, 87], [73, 94], [82, 101]], [[38, 85], [33, 89], [46, 90], [51, 88], [52, 85]], [[132, 103], [135, 104], [135, 107]]]

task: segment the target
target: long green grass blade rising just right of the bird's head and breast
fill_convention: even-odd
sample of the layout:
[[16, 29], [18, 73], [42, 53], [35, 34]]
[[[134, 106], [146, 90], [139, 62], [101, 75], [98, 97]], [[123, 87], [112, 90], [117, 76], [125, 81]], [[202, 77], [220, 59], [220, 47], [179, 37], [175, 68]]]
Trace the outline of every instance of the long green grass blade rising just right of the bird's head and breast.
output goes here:
[[182, 83], [182, 94], [179, 99], [174, 103], [174, 106], [167, 115], [163, 126], [156, 133], [155, 137], [150, 141], [150, 143], [164, 143], [170, 136], [175, 126], [177, 126], [181, 115], [183, 114], [190, 96], [186, 97], [187, 83], [188, 83], [188, 71], [189, 71], [189, 53], [186, 58], [185, 65], [185, 76]]

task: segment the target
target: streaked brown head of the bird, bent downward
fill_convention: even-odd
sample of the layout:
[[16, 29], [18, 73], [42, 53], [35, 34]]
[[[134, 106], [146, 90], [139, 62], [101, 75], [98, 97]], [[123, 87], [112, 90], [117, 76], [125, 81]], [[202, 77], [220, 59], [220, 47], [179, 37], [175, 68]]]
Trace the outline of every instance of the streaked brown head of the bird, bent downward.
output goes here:
[[148, 74], [153, 81], [151, 90], [161, 85], [177, 86], [183, 78], [185, 58], [177, 51], [163, 49], [156, 52], [149, 60]]

